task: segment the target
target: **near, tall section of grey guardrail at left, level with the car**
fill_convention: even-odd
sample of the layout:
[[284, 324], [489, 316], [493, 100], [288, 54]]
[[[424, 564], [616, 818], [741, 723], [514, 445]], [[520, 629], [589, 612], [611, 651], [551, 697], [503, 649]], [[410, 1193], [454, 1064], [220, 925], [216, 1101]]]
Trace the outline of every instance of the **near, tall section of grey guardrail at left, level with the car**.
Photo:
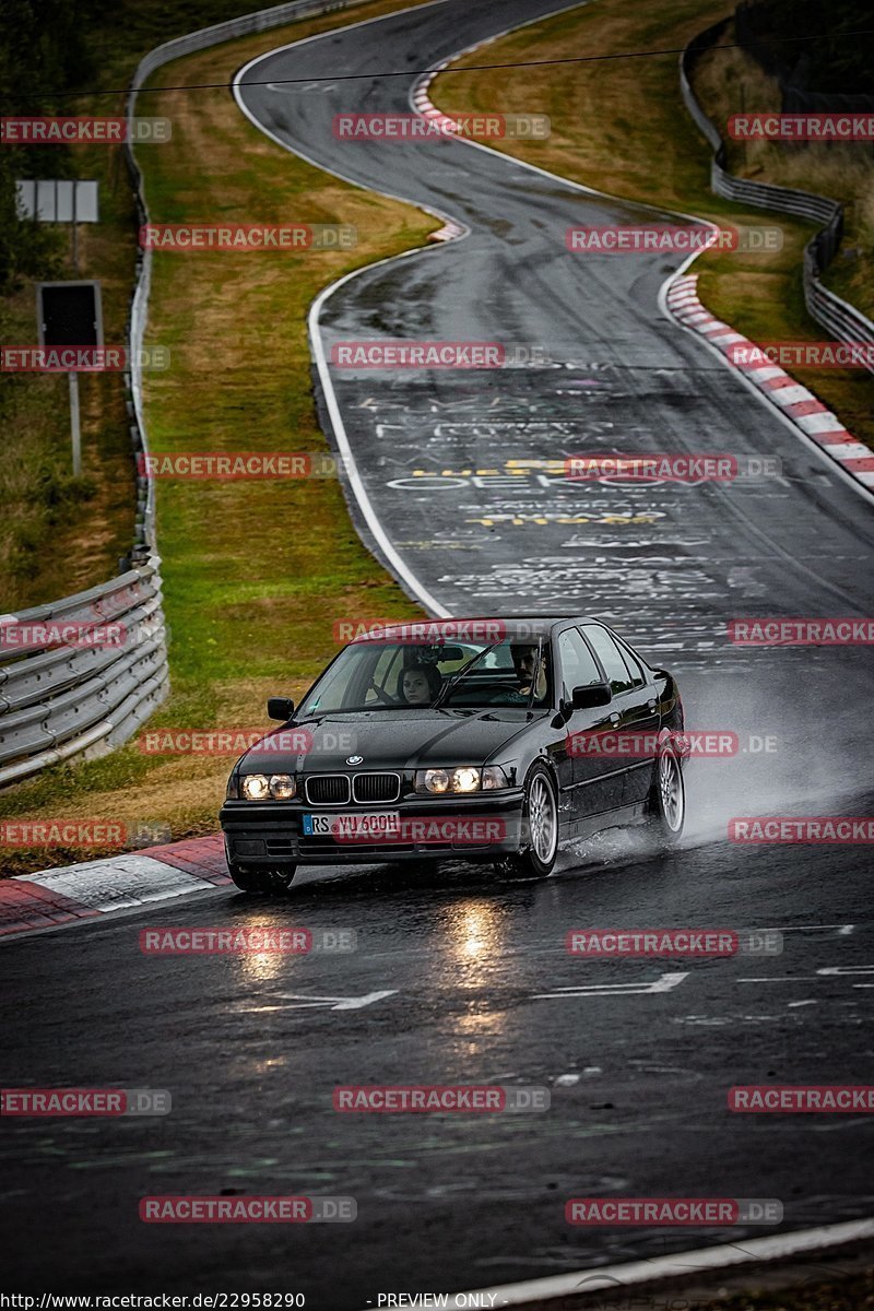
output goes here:
[[64, 600], [0, 616], [0, 785], [118, 746], [166, 691], [156, 560]]

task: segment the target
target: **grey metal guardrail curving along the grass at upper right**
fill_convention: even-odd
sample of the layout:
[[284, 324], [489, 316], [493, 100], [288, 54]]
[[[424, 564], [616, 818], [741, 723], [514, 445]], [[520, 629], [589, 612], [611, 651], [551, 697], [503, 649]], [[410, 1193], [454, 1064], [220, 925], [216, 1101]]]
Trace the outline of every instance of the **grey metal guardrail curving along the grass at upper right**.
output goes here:
[[[833, 260], [841, 240], [844, 210], [837, 201], [812, 191], [797, 191], [788, 186], [774, 186], [767, 182], [753, 182], [750, 178], [735, 177], [725, 169], [726, 147], [718, 128], [704, 113], [692, 90], [692, 67], [705, 50], [715, 45], [730, 20], [723, 18], [700, 33], [680, 55], [680, 89], [683, 100], [701, 132], [713, 147], [710, 163], [710, 186], [717, 195], [727, 201], [739, 201], [761, 210], [777, 210], [799, 219], [824, 224], [822, 231], [810, 239], [805, 246], [805, 304], [807, 313], [836, 337], [837, 341], [864, 341], [874, 345], [874, 324], [861, 311], [841, 300], [833, 291], [823, 286], [822, 274]], [[874, 364], [866, 366], [874, 372]]]

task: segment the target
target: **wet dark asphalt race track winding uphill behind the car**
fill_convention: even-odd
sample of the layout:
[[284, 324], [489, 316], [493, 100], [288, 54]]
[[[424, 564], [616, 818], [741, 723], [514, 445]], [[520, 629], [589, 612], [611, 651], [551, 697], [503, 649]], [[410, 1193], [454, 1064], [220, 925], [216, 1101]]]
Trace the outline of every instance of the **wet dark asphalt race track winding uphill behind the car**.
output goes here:
[[[421, 68], [553, 8], [451, 0], [270, 56], [252, 77]], [[300, 1290], [309, 1306], [354, 1308], [380, 1293], [478, 1287], [761, 1232], [571, 1230], [570, 1196], [776, 1197], [788, 1228], [871, 1211], [870, 1118], [726, 1109], [735, 1083], [870, 1078], [870, 848], [725, 840], [731, 814], [870, 813], [870, 662], [865, 652], [723, 645], [734, 615], [870, 614], [870, 506], [660, 316], [667, 261], [582, 264], [565, 250], [567, 223], [611, 222], [630, 207], [459, 143], [332, 136], [333, 113], [404, 109], [408, 90], [404, 79], [375, 76], [318, 94], [242, 92], [311, 157], [472, 228], [464, 243], [346, 284], [326, 302], [326, 342], [537, 341], [583, 367], [334, 374], [393, 545], [453, 612], [518, 606], [612, 619], [685, 674], [693, 725], [732, 729], [743, 742], [770, 734], [774, 750], [693, 763], [692, 822], [671, 856], [611, 834], [565, 853], [544, 885], [506, 886], [464, 865], [322, 871], [282, 905], [220, 890], [3, 944], [5, 1086], [168, 1087], [174, 1099], [160, 1121], [3, 1122], [9, 1290]], [[519, 493], [484, 475], [461, 496], [432, 484], [419, 499], [390, 486], [410, 468], [503, 473], [506, 459], [604, 443], [776, 452], [786, 477], [629, 490], [533, 476]], [[549, 519], [571, 503], [584, 522]], [[596, 522], [638, 513], [651, 522]], [[257, 961], [138, 950], [145, 924], [267, 920], [351, 927], [359, 950]], [[569, 928], [616, 924], [769, 926], [784, 929], [786, 950], [712, 962], [565, 954]], [[544, 995], [651, 986], [667, 973], [684, 977], [664, 992]], [[355, 1011], [299, 1000], [389, 990]], [[337, 1083], [453, 1082], [546, 1084], [553, 1109], [332, 1109]], [[359, 1219], [295, 1228], [138, 1219], [144, 1194], [227, 1189], [351, 1194]]]

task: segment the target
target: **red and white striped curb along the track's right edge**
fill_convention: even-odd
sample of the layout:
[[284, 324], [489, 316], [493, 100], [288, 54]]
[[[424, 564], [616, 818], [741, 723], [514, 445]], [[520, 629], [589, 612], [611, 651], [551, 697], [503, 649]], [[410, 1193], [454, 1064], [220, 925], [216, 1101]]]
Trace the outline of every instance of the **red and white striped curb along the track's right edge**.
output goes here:
[[823, 405], [812, 392], [802, 387], [777, 364], [752, 368], [736, 364], [730, 351], [746, 346], [755, 351], [756, 343], [730, 324], [722, 323], [698, 300], [697, 273], [681, 274], [668, 287], [666, 304], [674, 317], [685, 328], [697, 332], [726, 357], [726, 362], [748, 378], [773, 405], [791, 420], [801, 431], [836, 460], [869, 492], [874, 492], [874, 451], [844, 427], [836, 414]]

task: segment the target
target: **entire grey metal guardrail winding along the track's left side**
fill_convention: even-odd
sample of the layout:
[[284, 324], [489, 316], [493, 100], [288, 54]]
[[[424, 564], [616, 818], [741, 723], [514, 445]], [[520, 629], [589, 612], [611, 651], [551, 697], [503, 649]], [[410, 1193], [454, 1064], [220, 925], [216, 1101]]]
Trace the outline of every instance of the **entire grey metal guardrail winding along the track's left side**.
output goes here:
[[[145, 79], [174, 59], [236, 37], [266, 31], [308, 14], [349, 9], [364, 0], [292, 0], [203, 28], [151, 50], [136, 67], [127, 96], [134, 117]], [[128, 134], [130, 135], [130, 134]], [[130, 143], [127, 165], [136, 194], [138, 224], [148, 222], [143, 180]], [[145, 336], [152, 252], [140, 250], [127, 324], [131, 371], [128, 418], [134, 455], [148, 451], [143, 414], [142, 347]], [[0, 787], [25, 779], [80, 753], [101, 753], [124, 742], [169, 690], [161, 578], [155, 540], [155, 482], [136, 477], [134, 568], [110, 582], [18, 615], [0, 615]], [[83, 628], [123, 625], [119, 646], [88, 645]], [[76, 624], [76, 644], [59, 641], [22, 649], [3, 641], [3, 629]], [[9, 635], [8, 635], [9, 636]]]

